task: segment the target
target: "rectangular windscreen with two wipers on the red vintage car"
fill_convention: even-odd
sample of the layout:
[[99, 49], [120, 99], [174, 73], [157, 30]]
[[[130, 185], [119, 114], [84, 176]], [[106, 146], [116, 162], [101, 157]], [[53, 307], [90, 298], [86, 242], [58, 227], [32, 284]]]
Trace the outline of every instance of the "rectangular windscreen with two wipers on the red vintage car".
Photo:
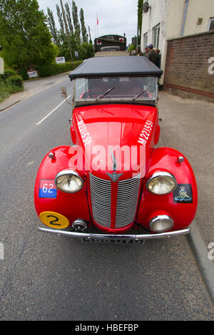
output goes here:
[[156, 77], [76, 78], [76, 101], [156, 100]]

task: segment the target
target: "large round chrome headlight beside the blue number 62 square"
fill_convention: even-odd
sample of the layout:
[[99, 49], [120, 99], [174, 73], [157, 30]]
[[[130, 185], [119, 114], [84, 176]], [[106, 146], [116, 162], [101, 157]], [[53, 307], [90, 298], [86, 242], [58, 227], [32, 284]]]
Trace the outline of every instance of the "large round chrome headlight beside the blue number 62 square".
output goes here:
[[83, 180], [76, 171], [63, 170], [56, 175], [55, 185], [58, 190], [74, 193], [81, 190], [83, 187]]

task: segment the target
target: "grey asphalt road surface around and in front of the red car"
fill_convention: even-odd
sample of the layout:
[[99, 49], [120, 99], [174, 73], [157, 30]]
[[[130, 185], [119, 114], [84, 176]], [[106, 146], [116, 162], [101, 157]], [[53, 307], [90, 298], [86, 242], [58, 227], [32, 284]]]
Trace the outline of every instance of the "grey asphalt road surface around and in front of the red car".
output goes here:
[[39, 164], [51, 148], [71, 144], [67, 103], [37, 125], [63, 101], [62, 84], [71, 94], [66, 79], [0, 113], [0, 319], [213, 320], [187, 237], [83, 244], [38, 230]]

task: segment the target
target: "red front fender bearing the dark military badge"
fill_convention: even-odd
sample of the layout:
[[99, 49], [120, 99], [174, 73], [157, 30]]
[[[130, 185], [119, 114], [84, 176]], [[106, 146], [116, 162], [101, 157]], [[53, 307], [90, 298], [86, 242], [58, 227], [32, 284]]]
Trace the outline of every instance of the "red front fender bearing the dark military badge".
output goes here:
[[[178, 162], [182, 156], [184, 160]], [[146, 181], [153, 172], [166, 171], [175, 176], [177, 187], [168, 195], [154, 195], [146, 189]], [[187, 197], [180, 194], [186, 192]], [[193, 169], [188, 160], [172, 148], [153, 150], [151, 163], [143, 180], [143, 192], [138, 207], [137, 222], [149, 229], [149, 221], [158, 214], [167, 213], [173, 218], [172, 230], [182, 230], [190, 225], [198, 205], [198, 192]]]

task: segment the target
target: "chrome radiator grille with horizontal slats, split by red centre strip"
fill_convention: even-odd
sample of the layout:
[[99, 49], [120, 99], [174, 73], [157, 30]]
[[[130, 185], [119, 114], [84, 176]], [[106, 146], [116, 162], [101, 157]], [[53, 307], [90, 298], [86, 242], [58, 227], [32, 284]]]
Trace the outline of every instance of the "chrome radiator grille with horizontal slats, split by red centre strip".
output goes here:
[[[93, 220], [103, 227], [111, 227], [111, 180], [103, 180], [90, 173]], [[133, 222], [138, 203], [140, 174], [128, 180], [118, 181], [116, 204], [116, 228]]]

